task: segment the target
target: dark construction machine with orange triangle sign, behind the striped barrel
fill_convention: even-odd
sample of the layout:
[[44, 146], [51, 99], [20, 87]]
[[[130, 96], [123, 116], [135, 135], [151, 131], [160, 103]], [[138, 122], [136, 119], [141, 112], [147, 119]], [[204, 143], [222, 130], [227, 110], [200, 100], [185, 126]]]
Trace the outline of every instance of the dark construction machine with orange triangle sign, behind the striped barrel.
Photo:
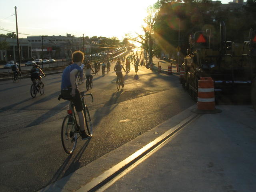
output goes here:
[[250, 29], [247, 41], [235, 43], [226, 41], [225, 28], [220, 22], [218, 37], [213, 37], [210, 30], [190, 36], [180, 83], [197, 100], [198, 80], [211, 77], [217, 102], [224, 96], [230, 100], [248, 96], [256, 110], [256, 31]]

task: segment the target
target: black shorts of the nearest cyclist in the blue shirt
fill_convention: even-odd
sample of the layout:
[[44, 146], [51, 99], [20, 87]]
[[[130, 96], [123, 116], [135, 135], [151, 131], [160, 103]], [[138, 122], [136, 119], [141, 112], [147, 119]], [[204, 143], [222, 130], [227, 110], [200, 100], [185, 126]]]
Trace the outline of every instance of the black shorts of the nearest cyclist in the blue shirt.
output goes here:
[[80, 91], [76, 88], [75, 96], [71, 97], [71, 90], [72, 90], [71, 88], [68, 89], [68, 90], [61, 90], [60, 91], [61, 97], [64, 100], [72, 101], [75, 108], [76, 108], [76, 111], [80, 112], [80, 111], [83, 110], [83, 103], [82, 103], [82, 99], [81, 99], [81, 96], [80, 96]]

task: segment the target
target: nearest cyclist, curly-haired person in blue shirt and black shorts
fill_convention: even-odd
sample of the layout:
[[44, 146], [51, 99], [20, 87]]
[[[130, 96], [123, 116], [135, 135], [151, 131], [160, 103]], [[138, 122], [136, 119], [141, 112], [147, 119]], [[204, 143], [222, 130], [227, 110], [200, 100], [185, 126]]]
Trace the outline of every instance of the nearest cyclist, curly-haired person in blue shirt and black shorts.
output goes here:
[[[80, 134], [82, 136], [82, 140], [86, 140], [90, 138], [89, 135], [85, 133], [85, 120], [84, 120], [84, 113], [83, 113], [83, 104], [80, 96], [80, 92], [76, 85], [76, 78], [78, 73], [82, 74], [83, 70], [81, 68], [82, 62], [84, 60], [84, 54], [81, 51], [75, 51], [72, 54], [72, 62], [73, 64], [67, 66], [63, 73], [62, 73], [62, 80], [61, 80], [61, 94], [70, 94], [72, 96], [71, 100], [74, 103], [76, 108], [76, 112], [79, 118], [80, 124]], [[71, 92], [67, 93], [67, 90]]]

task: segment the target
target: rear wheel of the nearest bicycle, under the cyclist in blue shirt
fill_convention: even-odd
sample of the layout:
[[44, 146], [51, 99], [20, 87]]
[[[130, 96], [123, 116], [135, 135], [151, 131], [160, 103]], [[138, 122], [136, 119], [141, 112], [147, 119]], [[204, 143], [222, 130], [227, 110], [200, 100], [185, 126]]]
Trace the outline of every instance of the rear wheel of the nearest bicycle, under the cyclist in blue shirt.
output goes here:
[[61, 141], [65, 152], [72, 154], [77, 142], [77, 129], [72, 115], [67, 115], [62, 122]]

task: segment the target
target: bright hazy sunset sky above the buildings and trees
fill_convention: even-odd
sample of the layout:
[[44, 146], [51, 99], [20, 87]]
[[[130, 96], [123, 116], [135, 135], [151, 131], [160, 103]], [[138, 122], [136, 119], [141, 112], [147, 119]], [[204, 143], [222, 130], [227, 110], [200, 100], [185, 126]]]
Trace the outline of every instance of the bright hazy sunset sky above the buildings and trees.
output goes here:
[[[142, 33], [147, 7], [157, 0], [1, 0], [0, 29], [31, 35], [106, 36]], [[230, 2], [224, 0], [222, 3]], [[11, 16], [13, 15], [13, 16]], [[10, 17], [9, 17], [10, 16]], [[0, 33], [8, 32], [0, 30]], [[20, 38], [27, 35], [19, 34]]]

